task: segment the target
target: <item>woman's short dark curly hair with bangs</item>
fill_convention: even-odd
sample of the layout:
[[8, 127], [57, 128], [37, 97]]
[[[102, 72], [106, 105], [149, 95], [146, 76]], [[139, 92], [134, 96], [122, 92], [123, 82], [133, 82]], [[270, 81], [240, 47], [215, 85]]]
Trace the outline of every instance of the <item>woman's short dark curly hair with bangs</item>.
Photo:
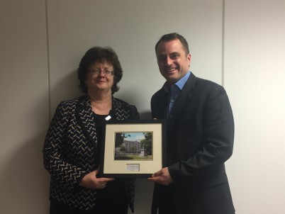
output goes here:
[[79, 68], [77, 69], [77, 78], [79, 79], [79, 88], [87, 94], [87, 87], [85, 84], [85, 80], [87, 78], [87, 72], [89, 66], [94, 64], [94, 62], [108, 62], [113, 65], [113, 86], [112, 86], [112, 94], [119, 90], [118, 82], [123, 77], [123, 69], [121, 67], [121, 63], [118, 60], [118, 55], [111, 47], [91, 47], [85, 55], [82, 57], [82, 60], [79, 63]]

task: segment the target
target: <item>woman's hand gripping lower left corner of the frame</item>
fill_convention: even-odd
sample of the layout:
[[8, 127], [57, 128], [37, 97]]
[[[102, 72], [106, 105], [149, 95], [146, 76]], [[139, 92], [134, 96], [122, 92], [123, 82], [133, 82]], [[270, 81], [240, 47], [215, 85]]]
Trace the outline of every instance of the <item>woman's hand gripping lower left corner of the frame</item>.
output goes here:
[[86, 174], [80, 181], [79, 186], [100, 189], [105, 188], [108, 181], [115, 180], [110, 178], [97, 178], [97, 174], [99, 174], [99, 167], [95, 171], [91, 171], [89, 174]]

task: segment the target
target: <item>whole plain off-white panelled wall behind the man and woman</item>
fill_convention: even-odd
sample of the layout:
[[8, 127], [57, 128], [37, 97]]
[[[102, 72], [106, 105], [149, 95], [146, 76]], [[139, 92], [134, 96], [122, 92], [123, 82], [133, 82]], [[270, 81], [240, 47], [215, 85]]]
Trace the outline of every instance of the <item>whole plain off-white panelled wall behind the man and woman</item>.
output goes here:
[[[282, 0], [2, 0], [1, 213], [47, 213], [41, 148], [49, 113], [81, 94], [84, 52], [116, 50], [124, 75], [115, 96], [148, 118], [150, 97], [164, 83], [155, 43], [170, 32], [189, 41], [194, 74], [228, 91], [236, 137], [227, 171], [237, 213], [284, 213], [284, 20]], [[138, 179], [135, 214], [149, 213], [151, 196], [152, 184]]]

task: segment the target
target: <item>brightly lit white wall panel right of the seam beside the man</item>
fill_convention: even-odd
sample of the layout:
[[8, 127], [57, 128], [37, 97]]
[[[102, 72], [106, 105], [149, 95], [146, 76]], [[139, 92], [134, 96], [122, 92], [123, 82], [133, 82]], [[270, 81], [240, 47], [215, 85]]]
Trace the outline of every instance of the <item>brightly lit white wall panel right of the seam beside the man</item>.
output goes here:
[[227, 164], [238, 213], [285, 213], [285, 1], [225, 1], [225, 88], [235, 113]]

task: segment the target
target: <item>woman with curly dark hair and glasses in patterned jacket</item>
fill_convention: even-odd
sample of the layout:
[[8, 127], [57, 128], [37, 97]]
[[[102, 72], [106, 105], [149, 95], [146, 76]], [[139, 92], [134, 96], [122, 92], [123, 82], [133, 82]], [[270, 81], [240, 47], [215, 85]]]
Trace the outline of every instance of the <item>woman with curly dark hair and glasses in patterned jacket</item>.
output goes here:
[[114, 98], [123, 76], [111, 48], [92, 47], [79, 64], [84, 96], [62, 101], [47, 130], [43, 157], [50, 173], [50, 214], [133, 212], [133, 179], [97, 178], [106, 120], [138, 119], [135, 106]]

